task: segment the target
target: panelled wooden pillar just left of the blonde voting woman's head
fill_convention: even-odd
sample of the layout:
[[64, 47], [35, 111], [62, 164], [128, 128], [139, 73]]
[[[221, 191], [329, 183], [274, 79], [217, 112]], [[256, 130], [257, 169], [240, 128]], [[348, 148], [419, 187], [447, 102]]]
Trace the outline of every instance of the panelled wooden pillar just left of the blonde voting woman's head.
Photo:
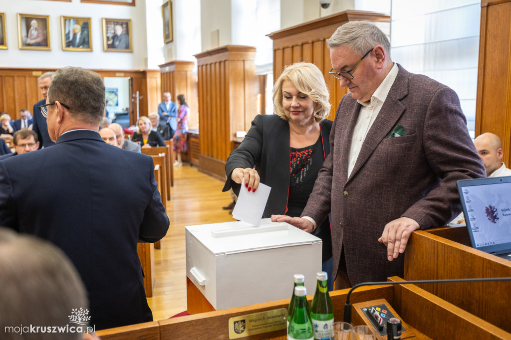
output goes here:
[[226, 45], [196, 54], [199, 94], [199, 171], [225, 179], [237, 131], [257, 114], [255, 47]]

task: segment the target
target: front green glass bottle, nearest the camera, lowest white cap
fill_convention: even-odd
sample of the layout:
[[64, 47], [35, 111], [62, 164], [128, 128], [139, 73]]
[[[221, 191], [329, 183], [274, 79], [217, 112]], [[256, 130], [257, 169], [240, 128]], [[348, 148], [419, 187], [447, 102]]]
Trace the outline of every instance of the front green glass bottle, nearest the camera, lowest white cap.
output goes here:
[[314, 330], [307, 302], [307, 288], [297, 286], [294, 288], [296, 297], [293, 314], [289, 321], [288, 340], [314, 340]]

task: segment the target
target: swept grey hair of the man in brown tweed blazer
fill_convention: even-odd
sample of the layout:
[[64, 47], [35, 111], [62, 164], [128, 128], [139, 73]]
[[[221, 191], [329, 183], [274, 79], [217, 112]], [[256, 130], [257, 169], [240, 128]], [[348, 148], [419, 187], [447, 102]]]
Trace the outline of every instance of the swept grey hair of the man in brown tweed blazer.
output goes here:
[[369, 21], [346, 22], [327, 39], [327, 44], [329, 48], [347, 46], [351, 52], [360, 56], [380, 45], [385, 56], [390, 58], [390, 42], [387, 36]]

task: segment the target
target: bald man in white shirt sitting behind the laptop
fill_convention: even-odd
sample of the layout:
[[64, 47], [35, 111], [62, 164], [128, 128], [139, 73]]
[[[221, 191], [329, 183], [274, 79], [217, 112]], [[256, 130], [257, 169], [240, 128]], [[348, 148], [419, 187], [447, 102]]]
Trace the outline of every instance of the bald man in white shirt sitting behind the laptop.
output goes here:
[[[491, 132], [483, 133], [474, 139], [474, 145], [486, 168], [486, 177], [511, 176], [511, 169], [508, 169], [502, 162], [504, 150], [502, 150], [502, 142], [499, 136]], [[452, 223], [465, 223], [463, 213], [454, 218]]]

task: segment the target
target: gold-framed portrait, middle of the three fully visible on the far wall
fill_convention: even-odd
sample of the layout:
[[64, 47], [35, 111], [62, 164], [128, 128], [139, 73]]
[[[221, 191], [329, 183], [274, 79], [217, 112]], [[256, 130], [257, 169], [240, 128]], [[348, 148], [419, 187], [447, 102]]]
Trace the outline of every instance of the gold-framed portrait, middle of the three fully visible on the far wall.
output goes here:
[[80, 16], [60, 16], [62, 51], [92, 51], [91, 19]]

